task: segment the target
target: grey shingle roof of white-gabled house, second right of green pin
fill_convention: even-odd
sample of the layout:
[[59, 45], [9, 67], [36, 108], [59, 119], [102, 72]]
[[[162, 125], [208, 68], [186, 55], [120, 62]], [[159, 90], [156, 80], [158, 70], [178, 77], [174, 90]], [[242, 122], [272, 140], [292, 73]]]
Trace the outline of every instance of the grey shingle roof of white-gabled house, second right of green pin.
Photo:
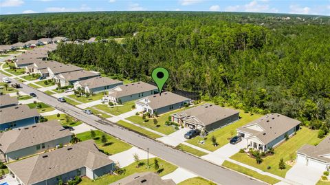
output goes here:
[[[246, 128], [252, 126], [253, 124], [257, 124], [261, 127], [261, 129], [263, 129], [263, 131], [256, 131], [254, 129]], [[268, 113], [258, 120], [254, 120], [248, 124], [245, 124], [243, 127], [239, 127], [237, 130], [251, 133], [252, 136], [250, 137], [255, 136], [264, 144], [268, 144], [269, 142], [272, 142], [272, 140], [275, 140], [289, 131], [289, 129], [296, 127], [298, 124], [300, 124], [300, 121], [283, 116], [279, 113]]]

